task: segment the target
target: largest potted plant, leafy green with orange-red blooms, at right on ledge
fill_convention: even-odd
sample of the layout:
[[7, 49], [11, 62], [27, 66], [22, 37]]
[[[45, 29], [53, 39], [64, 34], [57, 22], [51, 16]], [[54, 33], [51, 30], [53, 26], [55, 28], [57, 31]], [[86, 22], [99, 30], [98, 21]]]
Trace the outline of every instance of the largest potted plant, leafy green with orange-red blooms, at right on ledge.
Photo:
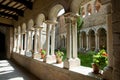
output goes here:
[[106, 66], [108, 63], [107, 53], [104, 49], [100, 50], [97, 54], [93, 55], [93, 73], [99, 73], [99, 70]]

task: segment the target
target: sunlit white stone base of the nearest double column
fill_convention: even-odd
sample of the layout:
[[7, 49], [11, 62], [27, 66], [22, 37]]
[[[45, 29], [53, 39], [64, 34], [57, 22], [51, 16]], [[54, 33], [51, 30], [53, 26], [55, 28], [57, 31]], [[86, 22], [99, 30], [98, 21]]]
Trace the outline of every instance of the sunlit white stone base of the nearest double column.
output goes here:
[[75, 58], [75, 59], [66, 59], [64, 61], [64, 68], [65, 69], [70, 69], [72, 67], [78, 67], [80, 66], [80, 59], [79, 58]]

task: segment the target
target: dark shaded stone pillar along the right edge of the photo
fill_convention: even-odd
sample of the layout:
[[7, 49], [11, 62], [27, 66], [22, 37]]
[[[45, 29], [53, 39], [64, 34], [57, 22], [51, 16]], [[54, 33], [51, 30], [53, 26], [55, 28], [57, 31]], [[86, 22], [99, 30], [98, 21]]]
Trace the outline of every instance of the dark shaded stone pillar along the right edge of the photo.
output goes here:
[[113, 80], [120, 80], [120, 0], [112, 0]]

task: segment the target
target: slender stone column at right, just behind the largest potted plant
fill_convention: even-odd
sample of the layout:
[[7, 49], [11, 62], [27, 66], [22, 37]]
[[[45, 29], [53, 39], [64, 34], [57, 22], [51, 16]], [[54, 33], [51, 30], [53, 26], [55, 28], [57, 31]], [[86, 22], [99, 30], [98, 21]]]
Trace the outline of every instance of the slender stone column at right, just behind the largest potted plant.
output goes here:
[[[117, 0], [115, 0], [115, 1], [117, 1]], [[119, 71], [117, 71], [117, 72], [119, 72], [119, 74], [116, 72], [115, 73], [113, 72], [113, 69], [114, 69], [113, 49], [115, 51], [117, 49], [117, 48], [113, 48], [113, 46], [115, 46], [114, 41], [118, 40], [118, 37], [116, 37], [116, 35], [114, 35], [114, 31], [119, 30], [119, 26], [114, 25], [114, 19], [112, 21], [112, 15], [111, 15], [112, 12], [111, 11], [113, 11], [113, 14], [114, 14], [114, 10], [111, 10], [111, 8], [113, 7], [113, 5], [111, 5], [111, 0], [102, 0], [102, 4], [107, 5], [107, 12], [108, 12], [108, 14], [106, 15], [108, 66], [104, 68], [103, 77], [106, 80], [119, 80], [120, 79], [120, 77], [119, 77], [120, 70], [118, 69]], [[116, 6], [118, 7], [119, 5], [116, 5]], [[115, 15], [113, 15], [114, 16], [113, 18], [115, 18]], [[112, 22], [113, 22], [113, 25], [112, 25]], [[116, 28], [116, 30], [115, 30], [115, 28]], [[114, 35], [114, 37], [113, 37], [113, 35]], [[117, 41], [117, 42], [119, 42], [119, 41]], [[119, 49], [117, 49], [117, 50], [119, 50]], [[114, 53], [116, 53], [115, 51], [114, 51]], [[117, 56], [119, 56], [119, 55], [117, 55]], [[116, 75], [119, 77], [118, 79], [116, 79], [117, 78]]]

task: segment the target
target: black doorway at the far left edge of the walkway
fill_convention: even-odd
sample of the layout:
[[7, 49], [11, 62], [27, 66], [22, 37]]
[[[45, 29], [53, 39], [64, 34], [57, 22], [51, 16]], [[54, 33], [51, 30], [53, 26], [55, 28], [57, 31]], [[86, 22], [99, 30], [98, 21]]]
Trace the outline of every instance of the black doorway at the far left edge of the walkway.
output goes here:
[[0, 32], [0, 60], [6, 59], [5, 35]]

